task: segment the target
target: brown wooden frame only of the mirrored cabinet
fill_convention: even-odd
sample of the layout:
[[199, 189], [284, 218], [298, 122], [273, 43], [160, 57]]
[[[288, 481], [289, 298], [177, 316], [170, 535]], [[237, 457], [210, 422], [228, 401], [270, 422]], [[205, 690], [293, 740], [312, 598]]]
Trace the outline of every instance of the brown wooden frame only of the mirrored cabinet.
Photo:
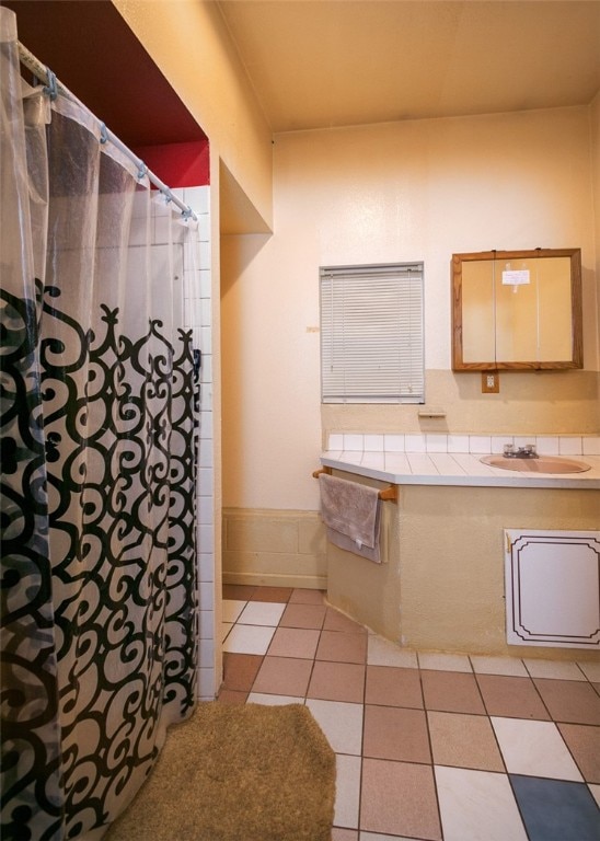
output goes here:
[[[472, 261], [517, 261], [544, 257], [570, 258], [570, 347], [569, 359], [498, 361], [482, 359], [477, 361], [463, 360], [463, 264]], [[491, 306], [493, 306], [491, 303]], [[584, 367], [582, 313], [581, 313], [581, 251], [580, 249], [535, 249], [533, 251], [483, 251], [452, 255], [452, 370], [453, 371], [489, 371], [489, 370], [561, 370]]]

